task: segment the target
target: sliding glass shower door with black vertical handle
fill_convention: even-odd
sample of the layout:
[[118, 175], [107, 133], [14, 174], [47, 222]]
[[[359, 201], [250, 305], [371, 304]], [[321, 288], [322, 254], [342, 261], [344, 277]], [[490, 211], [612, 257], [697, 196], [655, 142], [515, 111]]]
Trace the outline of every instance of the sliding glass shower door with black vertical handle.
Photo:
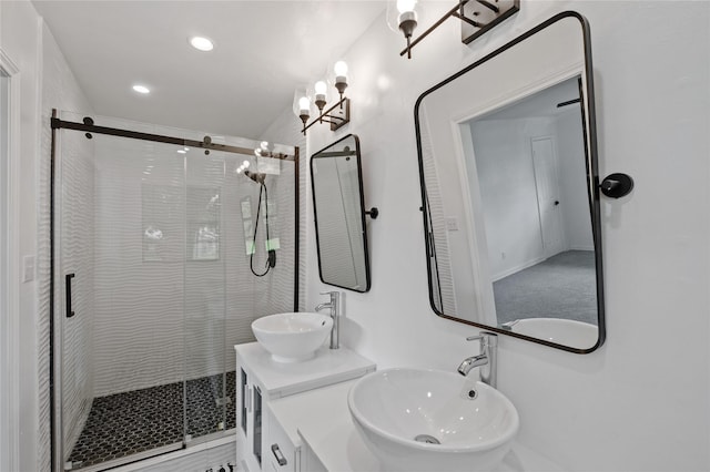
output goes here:
[[68, 131], [58, 165], [65, 466], [180, 449], [184, 158], [174, 145]]

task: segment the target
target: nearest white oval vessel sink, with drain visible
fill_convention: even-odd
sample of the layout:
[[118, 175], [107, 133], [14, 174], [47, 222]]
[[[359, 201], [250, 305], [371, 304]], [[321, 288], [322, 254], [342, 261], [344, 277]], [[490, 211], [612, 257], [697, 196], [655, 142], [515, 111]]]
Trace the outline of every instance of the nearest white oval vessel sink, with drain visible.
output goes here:
[[347, 404], [387, 471], [488, 471], [519, 425], [517, 410], [498, 390], [437, 370], [369, 373], [353, 386]]

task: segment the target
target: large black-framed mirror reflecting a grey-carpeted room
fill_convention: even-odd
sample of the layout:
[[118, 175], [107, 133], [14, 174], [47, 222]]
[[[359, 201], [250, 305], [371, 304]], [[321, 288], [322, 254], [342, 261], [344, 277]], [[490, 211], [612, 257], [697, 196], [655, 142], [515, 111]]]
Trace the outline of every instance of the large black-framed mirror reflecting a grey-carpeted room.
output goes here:
[[560, 13], [435, 85], [415, 123], [434, 311], [572, 352], [601, 346], [587, 21]]

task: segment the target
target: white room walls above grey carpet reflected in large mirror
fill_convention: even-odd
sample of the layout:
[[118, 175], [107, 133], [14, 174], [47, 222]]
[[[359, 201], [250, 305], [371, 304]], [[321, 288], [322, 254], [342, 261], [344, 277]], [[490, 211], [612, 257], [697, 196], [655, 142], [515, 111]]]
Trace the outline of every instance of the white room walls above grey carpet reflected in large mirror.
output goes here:
[[555, 145], [556, 191], [562, 202], [560, 249], [594, 250], [581, 120], [579, 107], [574, 109], [552, 117], [471, 122], [476, 161], [475, 165], [467, 161], [468, 182], [480, 183], [471, 198], [483, 202], [494, 280], [550, 256], [540, 232], [530, 147], [530, 140], [537, 136], [549, 136]]

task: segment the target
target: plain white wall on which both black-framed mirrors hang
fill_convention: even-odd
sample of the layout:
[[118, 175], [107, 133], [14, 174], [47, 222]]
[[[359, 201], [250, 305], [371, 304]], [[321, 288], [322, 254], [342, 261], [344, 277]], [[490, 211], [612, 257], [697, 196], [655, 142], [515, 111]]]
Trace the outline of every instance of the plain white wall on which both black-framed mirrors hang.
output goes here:
[[[343, 54], [352, 122], [336, 133], [308, 131], [314, 150], [359, 135], [366, 201], [382, 211], [368, 224], [373, 288], [347, 293], [342, 339], [379, 367], [453, 370], [475, 352], [464, 341], [475, 330], [437, 318], [428, 305], [414, 104], [566, 9], [591, 25], [600, 174], [627, 172], [637, 185], [625, 199], [601, 202], [606, 345], [577, 356], [503, 338], [499, 387], [520, 413], [520, 441], [566, 470], [708, 470], [708, 2], [523, 2], [516, 17], [468, 47], [449, 20], [412, 60], [397, 55], [402, 38], [384, 18], [375, 21]], [[433, 20], [423, 16], [420, 24]], [[312, 306], [327, 287], [307, 217]]]

